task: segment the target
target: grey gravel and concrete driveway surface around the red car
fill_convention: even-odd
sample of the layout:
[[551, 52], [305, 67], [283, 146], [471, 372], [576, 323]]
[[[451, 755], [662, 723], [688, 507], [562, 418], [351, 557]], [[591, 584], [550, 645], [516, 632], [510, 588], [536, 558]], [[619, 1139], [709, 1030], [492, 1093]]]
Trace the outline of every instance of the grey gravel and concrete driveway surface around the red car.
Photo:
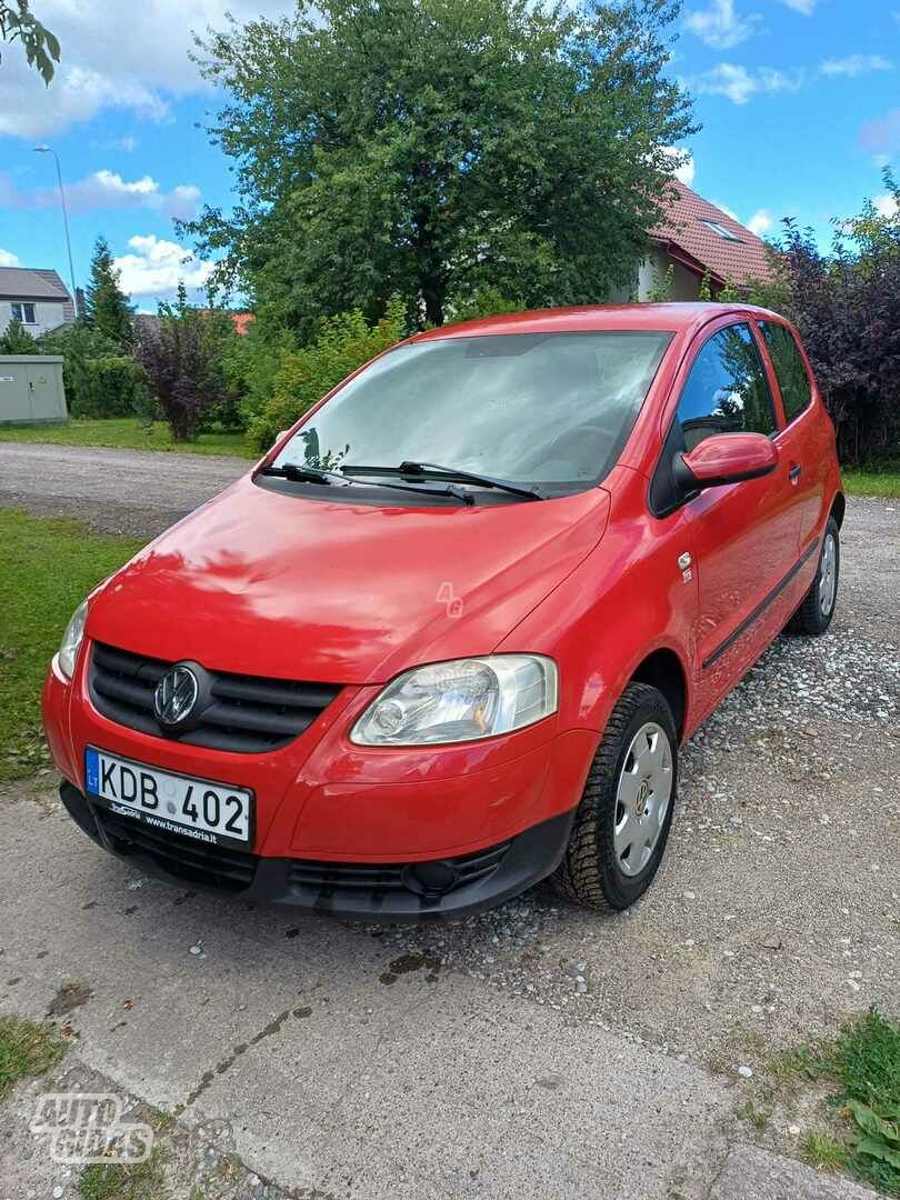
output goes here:
[[[0, 445], [0, 504], [149, 535], [244, 469]], [[736, 1120], [773, 1050], [900, 1009], [900, 502], [851, 500], [842, 554], [829, 635], [780, 638], [685, 748], [666, 864], [629, 913], [542, 887], [426, 929], [223, 905], [18, 785], [0, 1008], [83, 982], [73, 1078], [178, 1106], [203, 1170], [236, 1153], [222, 1195], [862, 1195], [785, 1165], [787, 1118]], [[74, 1194], [22, 1165], [28, 1103], [0, 1178]]]

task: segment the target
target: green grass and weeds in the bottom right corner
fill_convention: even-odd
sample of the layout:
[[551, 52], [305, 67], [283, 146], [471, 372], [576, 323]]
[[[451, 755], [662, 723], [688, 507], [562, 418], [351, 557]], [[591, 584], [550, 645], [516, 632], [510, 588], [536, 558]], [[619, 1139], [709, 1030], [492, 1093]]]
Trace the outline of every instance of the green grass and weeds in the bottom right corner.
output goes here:
[[773, 1070], [781, 1082], [805, 1078], [833, 1085], [833, 1128], [806, 1134], [800, 1152], [808, 1162], [847, 1168], [870, 1187], [900, 1196], [900, 1022], [871, 1009], [834, 1042], [781, 1055]]

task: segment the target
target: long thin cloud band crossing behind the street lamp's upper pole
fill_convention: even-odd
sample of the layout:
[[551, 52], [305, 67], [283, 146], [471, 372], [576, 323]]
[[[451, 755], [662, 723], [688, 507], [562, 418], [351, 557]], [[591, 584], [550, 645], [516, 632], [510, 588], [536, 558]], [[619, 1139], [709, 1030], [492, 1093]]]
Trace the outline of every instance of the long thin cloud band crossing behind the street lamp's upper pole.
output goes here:
[[[199, 203], [200, 190], [193, 184], [179, 184], [170, 192], [163, 192], [152, 175], [126, 180], [118, 172], [106, 168], [66, 185], [66, 204], [71, 212], [151, 209], [164, 217], [187, 221], [196, 216]], [[55, 186], [19, 191], [7, 175], [0, 174], [0, 208], [55, 209], [58, 204]]]

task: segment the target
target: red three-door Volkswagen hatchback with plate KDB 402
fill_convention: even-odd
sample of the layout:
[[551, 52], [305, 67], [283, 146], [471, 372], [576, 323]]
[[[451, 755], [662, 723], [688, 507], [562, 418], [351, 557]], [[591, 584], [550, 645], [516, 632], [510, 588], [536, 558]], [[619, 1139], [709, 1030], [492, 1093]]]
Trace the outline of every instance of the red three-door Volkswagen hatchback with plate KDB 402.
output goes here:
[[553, 875], [625, 908], [678, 744], [835, 604], [792, 328], [679, 304], [437, 329], [101, 583], [47, 677], [62, 800], [167, 880], [347, 917]]

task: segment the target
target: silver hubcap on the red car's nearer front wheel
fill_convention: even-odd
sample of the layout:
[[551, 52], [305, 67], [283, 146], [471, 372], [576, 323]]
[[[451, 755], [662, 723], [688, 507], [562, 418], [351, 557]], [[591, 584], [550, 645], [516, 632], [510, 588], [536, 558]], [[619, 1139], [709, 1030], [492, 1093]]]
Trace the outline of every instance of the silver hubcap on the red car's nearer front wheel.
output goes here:
[[616, 788], [613, 845], [623, 875], [649, 863], [671, 799], [672, 746], [662, 726], [648, 721], [631, 739]]

